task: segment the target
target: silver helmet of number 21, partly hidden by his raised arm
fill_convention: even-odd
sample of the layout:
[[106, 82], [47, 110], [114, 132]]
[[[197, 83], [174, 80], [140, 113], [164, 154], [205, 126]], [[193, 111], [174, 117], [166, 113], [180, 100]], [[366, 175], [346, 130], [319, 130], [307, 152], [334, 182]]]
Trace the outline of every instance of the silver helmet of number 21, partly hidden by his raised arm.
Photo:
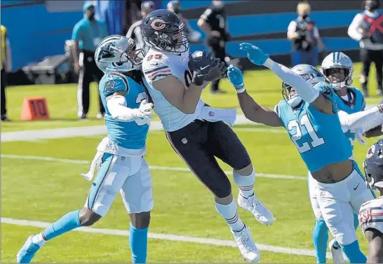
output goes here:
[[[299, 74], [302, 78], [304, 78], [304, 81], [307, 81], [307, 83], [312, 86], [316, 85], [316, 83], [325, 81], [325, 76], [309, 64], [298, 64], [293, 67], [292, 70], [295, 71], [296, 74]], [[292, 89], [294, 88], [287, 83], [282, 83], [283, 98], [286, 102], [288, 102], [288, 104], [290, 104], [290, 106], [295, 107], [302, 102], [302, 98], [297, 95], [296, 92], [292, 92]]]

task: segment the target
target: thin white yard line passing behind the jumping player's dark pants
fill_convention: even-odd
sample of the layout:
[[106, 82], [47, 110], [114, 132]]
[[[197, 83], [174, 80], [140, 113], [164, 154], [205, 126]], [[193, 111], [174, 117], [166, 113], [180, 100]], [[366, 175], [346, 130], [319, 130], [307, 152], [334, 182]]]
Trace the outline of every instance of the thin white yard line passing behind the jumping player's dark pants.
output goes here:
[[[12, 158], [16, 160], [43, 160], [43, 161], [53, 161], [53, 162], [64, 162], [69, 164], [90, 164], [88, 160], [69, 160], [65, 158], [41, 157], [41, 156], [30, 156], [30, 155], [1, 154], [1, 158]], [[168, 171], [174, 171], [174, 172], [190, 172], [190, 169], [186, 167], [149, 166], [149, 169], [168, 170]], [[233, 174], [232, 171], [224, 171], [224, 173], [229, 175]], [[257, 172], [257, 176], [264, 177], [264, 178], [272, 178], [272, 179], [293, 179], [293, 180], [307, 181], [307, 177], [296, 176], [296, 175], [268, 174], [268, 173]]]

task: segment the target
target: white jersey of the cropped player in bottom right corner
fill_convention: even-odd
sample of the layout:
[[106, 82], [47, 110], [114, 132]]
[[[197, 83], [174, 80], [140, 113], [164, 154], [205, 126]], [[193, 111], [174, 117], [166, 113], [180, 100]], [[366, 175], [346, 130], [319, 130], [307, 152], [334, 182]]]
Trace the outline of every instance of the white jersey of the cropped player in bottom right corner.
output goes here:
[[359, 210], [359, 224], [363, 232], [372, 228], [383, 233], [383, 196], [362, 204]]

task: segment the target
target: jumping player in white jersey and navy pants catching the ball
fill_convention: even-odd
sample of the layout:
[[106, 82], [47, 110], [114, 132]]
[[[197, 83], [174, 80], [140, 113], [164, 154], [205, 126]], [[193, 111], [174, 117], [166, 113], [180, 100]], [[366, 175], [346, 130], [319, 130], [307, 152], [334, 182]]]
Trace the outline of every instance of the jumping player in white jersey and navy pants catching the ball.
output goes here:
[[142, 62], [154, 111], [161, 118], [166, 137], [175, 152], [215, 196], [215, 208], [228, 223], [242, 256], [256, 262], [260, 252], [250, 230], [238, 216], [227, 175], [216, 158], [230, 165], [239, 187], [238, 204], [264, 225], [274, 216], [254, 194], [255, 170], [241, 141], [227, 125], [234, 109], [216, 109], [201, 100], [210, 81], [222, 78], [224, 63], [206, 52], [189, 55], [185, 26], [175, 13], [157, 10], [142, 21], [142, 36], [152, 47]]

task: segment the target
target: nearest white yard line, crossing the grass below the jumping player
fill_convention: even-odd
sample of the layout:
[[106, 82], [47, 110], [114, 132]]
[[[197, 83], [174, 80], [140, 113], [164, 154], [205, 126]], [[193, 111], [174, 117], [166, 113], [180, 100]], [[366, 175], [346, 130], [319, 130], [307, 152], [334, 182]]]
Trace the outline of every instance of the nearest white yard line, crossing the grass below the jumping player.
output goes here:
[[[23, 225], [23, 226], [31, 226], [34, 228], [47, 228], [51, 225], [48, 222], [41, 221], [30, 221], [30, 220], [22, 220], [22, 219], [13, 219], [13, 218], [1, 218], [1, 223], [8, 223], [10, 225]], [[129, 230], [119, 230], [119, 229], [106, 229], [106, 228], [88, 228], [81, 227], [76, 228], [74, 231], [78, 232], [89, 232], [95, 234], [103, 234], [103, 235], [119, 235], [123, 237], [129, 236]], [[163, 239], [177, 242], [192, 242], [199, 244], [211, 244], [215, 246], [230, 246], [236, 247], [236, 243], [231, 240], [223, 240], [223, 239], [212, 239], [212, 238], [203, 238], [203, 237], [187, 237], [184, 235], [166, 235], [166, 234], [156, 234], [149, 232], [149, 238], [152, 239]], [[266, 244], [257, 244], [258, 249], [261, 251], [271, 251], [275, 253], [285, 253], [291, 255], [299, 255], [299, 256], [315, 256], [314, 250], [309, 249], [292, 249], [288, 247], [282, 246], [271, 246]], [[328, 258], [331, 258], [330, 253], [327, 254]]]

